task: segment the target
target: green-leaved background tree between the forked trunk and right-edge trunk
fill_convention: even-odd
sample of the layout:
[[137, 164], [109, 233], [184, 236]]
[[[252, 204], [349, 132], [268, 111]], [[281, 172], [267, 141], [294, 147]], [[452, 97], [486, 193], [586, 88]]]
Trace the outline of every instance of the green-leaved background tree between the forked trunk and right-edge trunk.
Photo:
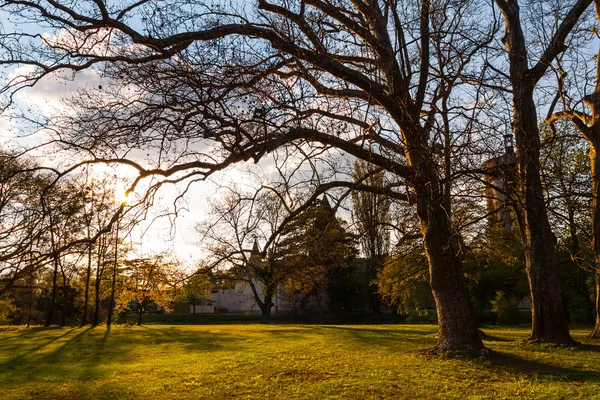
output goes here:
[[[583, 322], [593, 323], [594, 305], [588, 285], [593, 277], [591, 243], [590, 172], [587, 143], [577, 128], [566, 121], [556, 122], [553, 129], [540, 127], [542, 181], [547, 192], [549, 217], [558, 239], [559, 272], [567, 309], [583, 312]], [[570, 318], [571, 319], [571, 318]]]

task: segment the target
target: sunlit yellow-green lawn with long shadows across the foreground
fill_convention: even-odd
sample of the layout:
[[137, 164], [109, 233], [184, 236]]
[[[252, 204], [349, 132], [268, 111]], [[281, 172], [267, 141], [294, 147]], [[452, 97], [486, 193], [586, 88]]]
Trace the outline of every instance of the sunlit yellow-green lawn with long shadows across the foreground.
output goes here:
[[115, 325], [0, 330], [0, 399], [600, 398], [600, 343], [523, 345], [486, 328], [490, 359], [434, 358], [431, 325]]

